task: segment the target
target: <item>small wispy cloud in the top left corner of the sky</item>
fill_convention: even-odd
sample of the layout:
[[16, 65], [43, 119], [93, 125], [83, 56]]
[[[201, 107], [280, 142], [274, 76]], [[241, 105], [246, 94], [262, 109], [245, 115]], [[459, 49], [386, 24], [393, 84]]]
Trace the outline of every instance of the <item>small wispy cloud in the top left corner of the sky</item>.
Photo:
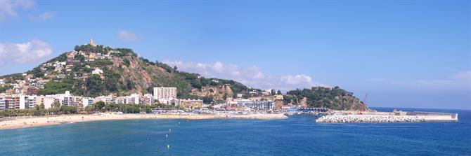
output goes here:
[[0, 0], [0, 21], [8, 17], [18, 17], [18, 10], [35, 6], [33, 0]]

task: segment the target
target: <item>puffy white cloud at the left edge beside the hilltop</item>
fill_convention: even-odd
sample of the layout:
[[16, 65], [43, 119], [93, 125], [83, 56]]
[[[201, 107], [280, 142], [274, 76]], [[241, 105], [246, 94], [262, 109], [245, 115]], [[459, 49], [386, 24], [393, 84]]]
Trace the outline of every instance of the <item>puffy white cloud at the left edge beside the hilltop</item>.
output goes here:
[[27, 63], [51, 54], [51, 45], [38, 39], [26, 43], [0, 43], [0, 64], [9, 61]]

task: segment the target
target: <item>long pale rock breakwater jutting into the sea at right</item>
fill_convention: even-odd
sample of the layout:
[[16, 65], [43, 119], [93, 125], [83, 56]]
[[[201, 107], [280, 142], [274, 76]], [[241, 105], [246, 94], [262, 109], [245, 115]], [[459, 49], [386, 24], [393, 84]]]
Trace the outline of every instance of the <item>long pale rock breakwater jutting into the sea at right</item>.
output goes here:
[[316, 122], [447, 122], [458, 121], [456, 113], [409, 113], [405, 115], [362, 114], [362, 115], [324, 115]]

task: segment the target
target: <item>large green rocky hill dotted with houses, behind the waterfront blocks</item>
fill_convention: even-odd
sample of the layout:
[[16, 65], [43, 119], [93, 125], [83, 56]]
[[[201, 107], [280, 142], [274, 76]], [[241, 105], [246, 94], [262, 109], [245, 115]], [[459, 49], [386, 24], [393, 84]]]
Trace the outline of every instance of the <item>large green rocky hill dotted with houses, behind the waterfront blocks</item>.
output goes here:
[[[160, 62], [138, 57], [131, 49], [103, 45], [77, 45], [70, 52], [21, 73], [1, 76], [7, 80], [44, 80], [39, 94], [73, 94], [97, 97], [102, 94], [152, 93], [153, 87], [177, 87], [179, 98], [198, 98], [199, 90], [214, 88], [214, 97], [232, 97], [247, 87], [234, 80], [204, 78], [198, 73], [178, 71]], [[230, 90], [225, 88], [230, 86]], [[219, 90], [221, 89], [221, 90]], [[223, 90], [224, 89], [224, 90]]]

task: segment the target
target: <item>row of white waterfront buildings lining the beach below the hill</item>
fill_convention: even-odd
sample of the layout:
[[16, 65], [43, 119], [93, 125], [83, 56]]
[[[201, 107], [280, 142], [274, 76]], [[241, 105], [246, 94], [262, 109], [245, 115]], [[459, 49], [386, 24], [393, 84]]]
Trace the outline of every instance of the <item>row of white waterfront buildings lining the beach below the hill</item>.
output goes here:
[[[32, 90], [34, 87], [26, 87], [26, 90], [19, 90], [18, 93], [1, 93], [0, 94], [0, 111], [1, 110], [15, 110], [15, 109], [34, 109], [37, 106], [44, 106], [49, 109], [53, 107], [54, 103], [60, 106], [74, 106], [76, 108], [85, 108], [92, 106], [98, 101], [103, 101], [105, 104], [136, 104], [136, 105], [154, 105], [164, 104], [172, 106], [179, 110], [186, 111], [208, 111], [211, 107], [212, 110], [217, 111], [274, 111], [274, 101], [264, 100], [255, 101], [250, 99], [228, 99], [221, 104], [204, 104], [202, 99], [177, 99], [176, 87], [154, 87], [154, 94], [131, 94], [124, 97], [116, 97], [113, 95], [100, 96], [100, 97], [81, 97], [70, 94], [66, 91], [63, 94], [50, 94], [50, 95], [37, 95], [37, 91]], [[241, 96], [240, 96], [241, 97]], [[276, 96], [278, 99], [283, 99], [283, 96]]]

